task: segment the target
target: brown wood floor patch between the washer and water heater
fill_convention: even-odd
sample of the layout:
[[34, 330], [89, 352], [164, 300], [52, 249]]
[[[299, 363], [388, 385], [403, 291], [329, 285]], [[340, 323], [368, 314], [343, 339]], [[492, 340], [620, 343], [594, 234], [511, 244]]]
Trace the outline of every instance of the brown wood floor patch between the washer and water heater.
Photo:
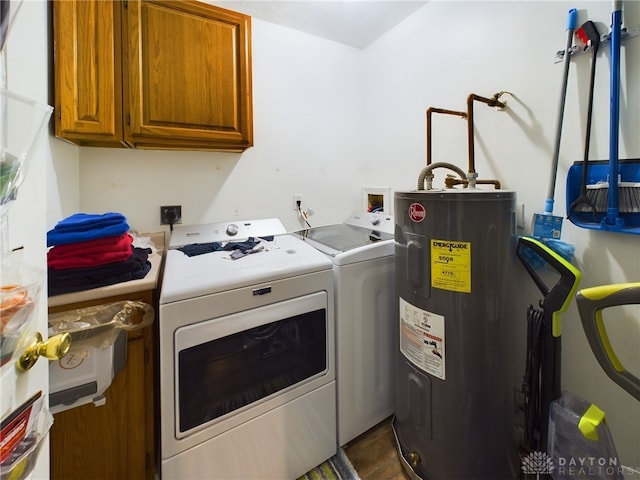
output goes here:
[[410, 480], [398, 458], [391, 420], [387, 418], [342, 447], [361, 480]]

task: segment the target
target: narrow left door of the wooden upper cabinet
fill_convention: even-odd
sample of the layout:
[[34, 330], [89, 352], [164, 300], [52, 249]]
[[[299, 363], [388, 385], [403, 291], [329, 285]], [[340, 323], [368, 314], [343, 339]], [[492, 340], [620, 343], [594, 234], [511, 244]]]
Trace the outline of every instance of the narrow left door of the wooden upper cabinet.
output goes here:
[[123, 146], [120, 2], [53, 2], [56, 136]]

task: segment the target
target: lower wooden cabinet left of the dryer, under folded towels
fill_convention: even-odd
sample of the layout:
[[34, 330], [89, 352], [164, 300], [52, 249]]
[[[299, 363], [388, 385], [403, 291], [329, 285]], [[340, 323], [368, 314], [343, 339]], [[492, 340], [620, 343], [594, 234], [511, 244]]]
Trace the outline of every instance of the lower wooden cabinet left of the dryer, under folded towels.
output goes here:
[[[142, 301], [155, 309], [154, 299], [154, 292], [146, 291], [50, 307], [49, 313], [122, 300]], [[105, 405], [91, 403], [54, 415], [49, 437], [52, 480], [154, 478], [155, 328], [154, 320], [129, 332], [127, 361], [105, 392]]]

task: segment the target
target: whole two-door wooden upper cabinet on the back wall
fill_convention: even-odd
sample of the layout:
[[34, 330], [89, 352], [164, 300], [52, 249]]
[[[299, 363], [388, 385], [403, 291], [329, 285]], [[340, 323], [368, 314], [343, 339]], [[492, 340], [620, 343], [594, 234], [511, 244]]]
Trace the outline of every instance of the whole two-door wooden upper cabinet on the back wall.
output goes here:
[[54, 10], [57, 136], [172, 150], [253, 145], [249, 16], [165, 0], [65, 0]]

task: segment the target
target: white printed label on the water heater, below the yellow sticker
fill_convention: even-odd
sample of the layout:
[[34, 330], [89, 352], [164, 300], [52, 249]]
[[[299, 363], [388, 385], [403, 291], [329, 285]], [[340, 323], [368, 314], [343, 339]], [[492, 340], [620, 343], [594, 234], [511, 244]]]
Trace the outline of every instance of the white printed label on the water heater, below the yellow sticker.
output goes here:
[[445, 379], [444, 317], [400, 298], [400, 351], [423, 372]]

